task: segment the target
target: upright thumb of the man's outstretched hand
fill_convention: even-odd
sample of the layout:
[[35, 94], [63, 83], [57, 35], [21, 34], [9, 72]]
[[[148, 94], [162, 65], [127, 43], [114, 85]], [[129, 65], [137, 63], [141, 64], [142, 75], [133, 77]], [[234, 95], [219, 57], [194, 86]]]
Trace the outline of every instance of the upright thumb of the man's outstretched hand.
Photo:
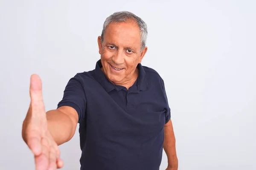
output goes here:
[[32, 74], [30, 77], [29, 93], [31, 98], [32, 112], [44, 112], [42, 82], [37, 74]]

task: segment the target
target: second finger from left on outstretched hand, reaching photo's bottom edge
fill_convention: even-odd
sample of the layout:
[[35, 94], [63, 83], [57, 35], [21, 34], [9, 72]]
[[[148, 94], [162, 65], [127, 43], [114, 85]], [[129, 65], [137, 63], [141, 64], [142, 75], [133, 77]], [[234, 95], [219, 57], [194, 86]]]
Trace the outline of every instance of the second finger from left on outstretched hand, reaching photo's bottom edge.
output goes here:
[[49, 144], [45, 138], [41, 140], [42, 152], [39, 156], [35, 156], [36, 170], [47, 170], [49, 166]]

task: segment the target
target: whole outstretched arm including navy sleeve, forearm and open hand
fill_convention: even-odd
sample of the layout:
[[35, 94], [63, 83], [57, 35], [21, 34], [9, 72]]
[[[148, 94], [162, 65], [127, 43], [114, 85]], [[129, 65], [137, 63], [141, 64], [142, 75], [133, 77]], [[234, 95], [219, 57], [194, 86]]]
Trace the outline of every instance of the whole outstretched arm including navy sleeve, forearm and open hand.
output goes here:
[[83, 90], [78, 81], [77, 78], [71, 79], [58, 109], [46, 113], [41, 79], [36, 74], [30, 78], [31, 101], [22, 125], [22, 138], [35, 156], [36, 169], [63, 167], [58, 145], [73, 137], [85, 108], [85, 96], [79, 95]]

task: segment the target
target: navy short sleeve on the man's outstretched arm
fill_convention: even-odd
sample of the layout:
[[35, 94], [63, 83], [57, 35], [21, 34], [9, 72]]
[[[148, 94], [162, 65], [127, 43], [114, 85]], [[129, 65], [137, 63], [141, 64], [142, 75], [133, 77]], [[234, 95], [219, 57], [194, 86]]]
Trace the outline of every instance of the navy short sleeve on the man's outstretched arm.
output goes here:
[[85, 118], [86, 98], [84, 94], [83, 81], [76, 74], [71, 78], [66, 85], [62, 100], [58, 103], [58, 107], [70, 106], [76, 110], [79, 116], [78, 123], [81, 123]]

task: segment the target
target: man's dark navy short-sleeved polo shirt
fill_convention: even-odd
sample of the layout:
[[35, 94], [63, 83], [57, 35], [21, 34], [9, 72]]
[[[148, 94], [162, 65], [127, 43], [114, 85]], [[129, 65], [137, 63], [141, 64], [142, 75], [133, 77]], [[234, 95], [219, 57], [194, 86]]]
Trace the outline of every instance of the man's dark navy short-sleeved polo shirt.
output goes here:
[[127, 90], [101, 71], [76, 74], [58, 103], [79, 115], [81, 170], [159, 170], [163, 127], [171, 117], [163, 79], [139, 64], [139, 76]]

